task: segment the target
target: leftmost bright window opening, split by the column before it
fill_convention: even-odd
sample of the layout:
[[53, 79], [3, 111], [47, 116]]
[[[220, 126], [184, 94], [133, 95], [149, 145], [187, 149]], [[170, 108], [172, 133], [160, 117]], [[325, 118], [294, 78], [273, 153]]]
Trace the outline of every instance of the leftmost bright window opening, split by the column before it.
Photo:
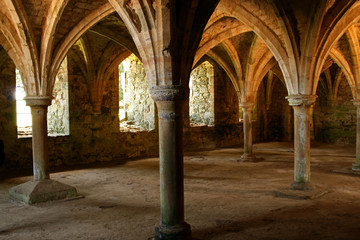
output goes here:
[[[31, 109], [29, 106], [26, 106], [25, 96], [26, 93], [20, 72], [16, 69], [16, 122], [19, 138], [31, 137], [32, 135]], [[53, 99], [48, 107], [47, 114], [48, 135], [69, 135], [69, 91], [66, 58], [62, 62], [56, 76], [52, 97]]]

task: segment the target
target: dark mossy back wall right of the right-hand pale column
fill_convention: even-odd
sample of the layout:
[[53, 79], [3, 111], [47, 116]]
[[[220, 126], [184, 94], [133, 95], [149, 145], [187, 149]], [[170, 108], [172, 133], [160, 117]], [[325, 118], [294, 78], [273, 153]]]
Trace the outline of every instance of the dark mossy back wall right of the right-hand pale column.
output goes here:
[[314, 108], [315, 140], [328, 143], [356, 142], [356, 107], [346, 79], [342, 79], [336, 100], [318, 85], [318, 99]]

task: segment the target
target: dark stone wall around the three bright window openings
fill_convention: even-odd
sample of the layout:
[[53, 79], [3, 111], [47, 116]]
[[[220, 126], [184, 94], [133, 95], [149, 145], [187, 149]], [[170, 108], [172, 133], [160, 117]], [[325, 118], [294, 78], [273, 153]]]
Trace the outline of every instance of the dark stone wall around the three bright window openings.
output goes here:
[[[158, 132], [123, 132], [119, 129], [119, 72], [105, 86], [101, 113], [93, 111], [89, 82], [78, 60], [68, 57], [70, 134], [49, 137], [50, 166], [86, 165], [93, 162], [127, 161], [158, 155]], [[11, 61], [0, 70], [0, 140], [4, 144], [5, 169], [31, 169], [31, 137], [17, 138], [15, 121], [15, 67]], [[215, 126], [184, 128], [184, 150], [241, 146], [238, 100], [226, 73], [214, 67]], [[6, 126], [6, 127], [5, 127]], [[0, 146], [1, 150], [1, 146]], [[1, 154], [0, 154], [1, 156]], [[240, 157], [240, 155], [239, 155]]]

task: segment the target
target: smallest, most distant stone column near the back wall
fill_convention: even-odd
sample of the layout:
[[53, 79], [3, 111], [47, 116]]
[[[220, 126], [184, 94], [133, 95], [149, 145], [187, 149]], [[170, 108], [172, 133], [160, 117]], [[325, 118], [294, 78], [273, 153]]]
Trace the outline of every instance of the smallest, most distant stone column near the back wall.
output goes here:
[[252, 151], [252, 111], [254, 103], [241, 103], [240, 107], [243, 111], [243, 131], [244, 131], [244, 154], [241, 156], [240, 161], [252, 162], [257, 158]]

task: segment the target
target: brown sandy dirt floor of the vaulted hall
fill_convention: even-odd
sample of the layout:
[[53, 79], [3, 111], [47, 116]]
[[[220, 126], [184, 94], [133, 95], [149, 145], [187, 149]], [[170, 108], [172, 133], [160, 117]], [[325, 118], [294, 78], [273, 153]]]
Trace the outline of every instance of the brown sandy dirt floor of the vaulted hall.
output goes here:
[[[360, 175], [355, 147], [313, 144], [313, 191], [289, 190], [291, 143], [254, 146], [264, 161], [238, 163], [241, 148], [188, 153], [185, 216], [203, 240], [360, 239]], [[8, 189], [31, 176], [0, 181], [0, 239], [146, 240], [159, 221], [158, 159], [63, 171], [51, 178], [82, 196], [26, 206]]]

